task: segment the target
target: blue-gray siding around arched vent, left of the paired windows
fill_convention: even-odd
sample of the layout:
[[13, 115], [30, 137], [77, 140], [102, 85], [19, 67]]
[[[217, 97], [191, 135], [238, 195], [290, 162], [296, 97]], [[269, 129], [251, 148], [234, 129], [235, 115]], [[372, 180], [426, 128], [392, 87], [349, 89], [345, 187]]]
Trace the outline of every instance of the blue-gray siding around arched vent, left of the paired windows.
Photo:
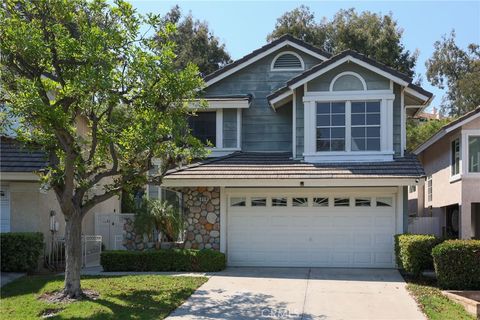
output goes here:
[[[292, 150], [292, 108], [283, 106], [275, 111], [266, 98], [284, 86], [286, 81], [302, 72], [270, 71], [274, 57], [285, 50], [274, 52], [205, 90], [207, 95], [245, 93], [253, 95], [250, 108], [242, 110], [243, 151]], [[292, 48], [288, 51], [297, 52], [307, 69], [321, 62], [301, 51]]]

